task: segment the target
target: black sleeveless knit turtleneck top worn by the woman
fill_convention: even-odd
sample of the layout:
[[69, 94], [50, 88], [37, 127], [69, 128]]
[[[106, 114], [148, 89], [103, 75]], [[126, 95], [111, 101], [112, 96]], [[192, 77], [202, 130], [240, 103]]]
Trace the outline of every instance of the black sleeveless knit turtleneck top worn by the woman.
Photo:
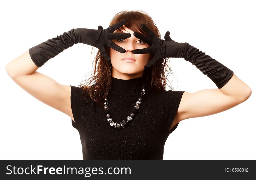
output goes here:
[[[143, 77], [130, 80], [112, 77], [108, 106], [114, 122], [119, 124], [130, 116], [142, 90], [142, 83]], [[145, 88], [133, 120], [127, 127], [118, 130], [107, 122], [103, 107], [90, 98], [86, 102], [82, 89], [71, 86], [75, 123], [71, 121], [80, 135], [83, 159], [163, 159], [166, 139], [179, 124], [168, 132], [185, 91], [156, 93], [147, 86]]]

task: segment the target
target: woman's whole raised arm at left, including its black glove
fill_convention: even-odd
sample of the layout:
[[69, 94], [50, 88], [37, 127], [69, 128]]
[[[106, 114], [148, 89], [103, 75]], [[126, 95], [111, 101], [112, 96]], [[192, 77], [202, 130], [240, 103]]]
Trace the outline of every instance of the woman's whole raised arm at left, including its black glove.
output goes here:
[[10, 78], [26, 92], [41, 102], [67, 114], [74, 121], [70, 103], [70, 85], [59, 84], [36, 70], [49, 59], [79, 42], [99, 48], [106, 60], [110, 60], [110, 58], [105, 46], [122, 53], [126, 52], [125, 49], [111, 41], [111, 39], [131, 36], [129, 33], [113, 33], [125, 23], [126, 19], [106, 29], [103, 29], [102, 26], [99, 26], [98, 29], [73, 28], [62, 35], [30, 48], [29, 51], [6, 64], [6, 71]]

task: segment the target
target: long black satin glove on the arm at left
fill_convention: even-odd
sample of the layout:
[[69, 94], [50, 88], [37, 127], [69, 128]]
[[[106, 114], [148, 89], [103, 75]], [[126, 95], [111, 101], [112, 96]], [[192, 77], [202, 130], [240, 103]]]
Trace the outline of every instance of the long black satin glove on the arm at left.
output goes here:
[[41, 67], [49, 59], [64, 51], [64, 49], [80, 42], [99, 48], [104, 58], [107, 61], [111, 61], [106, 52], [105, 46], [113, 48], [120, 53], [126, 52], [125, 49], [111, 41], [111, 39], [126, 39], [131, 37], [130, 33], [113, 33], [126, 22], [126, 19], [124, 19], [106, 29], [103, 29], [102, 26], [98, 26], [98, 29], [73, 28], [67, 33], [64, 32], [63, 35], [48, 39], [48, 41], [30, 48], [29, 55], [35, 65]]

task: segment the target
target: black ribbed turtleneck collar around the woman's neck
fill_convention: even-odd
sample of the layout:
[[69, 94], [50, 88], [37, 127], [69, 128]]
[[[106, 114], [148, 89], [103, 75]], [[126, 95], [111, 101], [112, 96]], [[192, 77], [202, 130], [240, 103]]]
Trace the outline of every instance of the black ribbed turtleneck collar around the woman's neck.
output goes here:
[[[110, 94], [120, 95], [120, 96], [137, 96], [140, 95], [143, 84], [143, 77], [138, 77], [134, 79], [118, 79], [111, 77], [112, 84], [109, 90]], [[145, 85], [146, 86], [146, 85]]]

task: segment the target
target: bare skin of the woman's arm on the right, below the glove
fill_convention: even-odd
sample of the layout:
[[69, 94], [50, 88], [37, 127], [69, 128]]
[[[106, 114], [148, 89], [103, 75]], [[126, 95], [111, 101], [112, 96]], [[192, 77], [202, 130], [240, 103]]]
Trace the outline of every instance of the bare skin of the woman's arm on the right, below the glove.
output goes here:
[[235, 107], [246, 101], [251, 93], [250, 87], [235, 74], [221, 89], [184, 92], [170, 130], [184, 119], [209, 116]]

